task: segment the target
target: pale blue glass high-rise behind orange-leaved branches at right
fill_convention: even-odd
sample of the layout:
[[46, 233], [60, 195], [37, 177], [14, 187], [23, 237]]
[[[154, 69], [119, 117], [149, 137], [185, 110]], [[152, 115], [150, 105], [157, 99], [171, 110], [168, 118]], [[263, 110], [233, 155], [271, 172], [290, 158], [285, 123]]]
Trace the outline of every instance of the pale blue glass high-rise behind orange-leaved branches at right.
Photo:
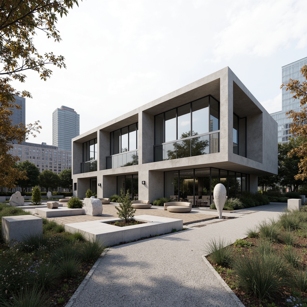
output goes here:
[[[307, 57], [298, 60], [291, 64], [282, 66], [282, 83], [287, 84], [289, 79], [305, 81], [304, 76], [301, 74], [301, 69], [307, 65]], [[271, 116], [278, 123], [278, 143], [287, 143], [291, 138], [290, 124], [291, 119], [288, 119], [286, 113], [290, 110], [295, 112], [301, 111], [300, 99], [293, 99], [293, 94], [286, 91], [286, 87], [282, 88], [282, 111], [272, 113]]]

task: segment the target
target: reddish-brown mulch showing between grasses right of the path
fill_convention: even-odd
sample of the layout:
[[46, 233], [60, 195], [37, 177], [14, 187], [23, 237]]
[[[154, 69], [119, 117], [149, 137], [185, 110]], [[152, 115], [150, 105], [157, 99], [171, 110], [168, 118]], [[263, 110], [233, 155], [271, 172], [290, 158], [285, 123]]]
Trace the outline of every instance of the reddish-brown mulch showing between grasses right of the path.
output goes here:
[[[252, 247], [238, 247], [238, 246], [232, 246], [233, 251], [236, 256], [243, 257], [244, 254], [250, 254], [253, 250], [253, 248], [256, 245], [257, 239], [256, 238], [245, 238], [244, 240], [253, 243]], [[278, 254], [282, 254], [282, 252], [285, 250], [285, 244], [283, 243], [274, 243], [273, 248], [275, 251], [277, 251]], [[302, 267], [307, 266], [307, 239], [297, 237], [297, 243], [294, 245], [294, 249], [301, 257], [301, 265]], [[231, 288], [231, 290], [235, 293], [237, 297], [241, 300], [241, 302], [246, 307], [265, 307], [266, 304], [259, 303], [259, 300], [251, 296], [249, 293], [245, 293], [241, 289], [239, 289], [236, 285], [236, 278], [234, 275], [234, 272], [227, 268], [222, 266], [217, 266], [216, 264], [212, 263], [210, 261], [210, 256], [207, 257], [208, 261], [211, 263], [211, 265], [216, 269], [216, 271], [220, 274], [220, 276], [223, 278], [223, 280], [227, 283], [227, 285]], [[286, 306], [286, 299], [290, 297], [292, 291], [289, 288], [284, 288], [281, 295], [276, 297], [273, 303], [275, 303], [275, 306], [277, 307], [284, 307]], [[302, 293], [302, 298], [307, 298], [307, 293]], [[271, 303], [272, 303], [271, 302]]]

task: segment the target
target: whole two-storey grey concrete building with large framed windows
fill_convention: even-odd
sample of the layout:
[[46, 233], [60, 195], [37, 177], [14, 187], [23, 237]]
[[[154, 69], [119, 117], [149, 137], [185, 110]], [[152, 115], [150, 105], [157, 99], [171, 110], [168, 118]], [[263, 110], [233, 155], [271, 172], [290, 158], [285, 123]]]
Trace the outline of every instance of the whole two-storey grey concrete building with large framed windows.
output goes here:
[[72, 140], [74, 196], [228, 196], [277, 173], [277, 123], [228, 68]]

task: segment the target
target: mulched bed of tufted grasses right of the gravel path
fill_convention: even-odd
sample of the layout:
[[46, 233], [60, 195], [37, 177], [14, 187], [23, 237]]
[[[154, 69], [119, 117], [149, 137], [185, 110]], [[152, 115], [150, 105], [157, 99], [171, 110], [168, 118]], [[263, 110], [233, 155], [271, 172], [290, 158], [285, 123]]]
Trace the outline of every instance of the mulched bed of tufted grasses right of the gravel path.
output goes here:
[[206, 246], [209, 262], [243, 304], [307, 307], [307, 212], [286, 211], [246, 235]]

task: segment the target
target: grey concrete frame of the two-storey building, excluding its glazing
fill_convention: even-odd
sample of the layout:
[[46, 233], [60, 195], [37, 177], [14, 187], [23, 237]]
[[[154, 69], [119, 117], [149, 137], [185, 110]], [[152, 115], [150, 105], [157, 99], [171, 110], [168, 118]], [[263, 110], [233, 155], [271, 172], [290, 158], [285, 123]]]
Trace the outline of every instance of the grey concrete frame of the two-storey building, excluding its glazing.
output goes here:
[[[219, 132], [219, 151], [154, 161], [155, 115], [206, 95], [212, 95], [220, 103], [220, 129], [214, 131]], [[246, 118], [246, 156], [233, 152], [234, 114]], [[107, 169], [110, 133], [136, 122], [138, 164]], [[81, 173], [83, 143], [94, 138], [98, 139], [97, 170]], [[164, 172], [206, 167], [248, 174], [251, 191], [257, 191], [258, 175], [277, 174], [278, 171], [277, 123], [228, 67], [72, 139], [73, 196], [80, 198], [84, 198], [90, 188], [91, 178], [97, 179], [97, 197], [102, 198], [117, 192], [117, 176], [138, 174], [138, 199], [153, 202], [158, 197], [168, 196], [164, 195]]]

